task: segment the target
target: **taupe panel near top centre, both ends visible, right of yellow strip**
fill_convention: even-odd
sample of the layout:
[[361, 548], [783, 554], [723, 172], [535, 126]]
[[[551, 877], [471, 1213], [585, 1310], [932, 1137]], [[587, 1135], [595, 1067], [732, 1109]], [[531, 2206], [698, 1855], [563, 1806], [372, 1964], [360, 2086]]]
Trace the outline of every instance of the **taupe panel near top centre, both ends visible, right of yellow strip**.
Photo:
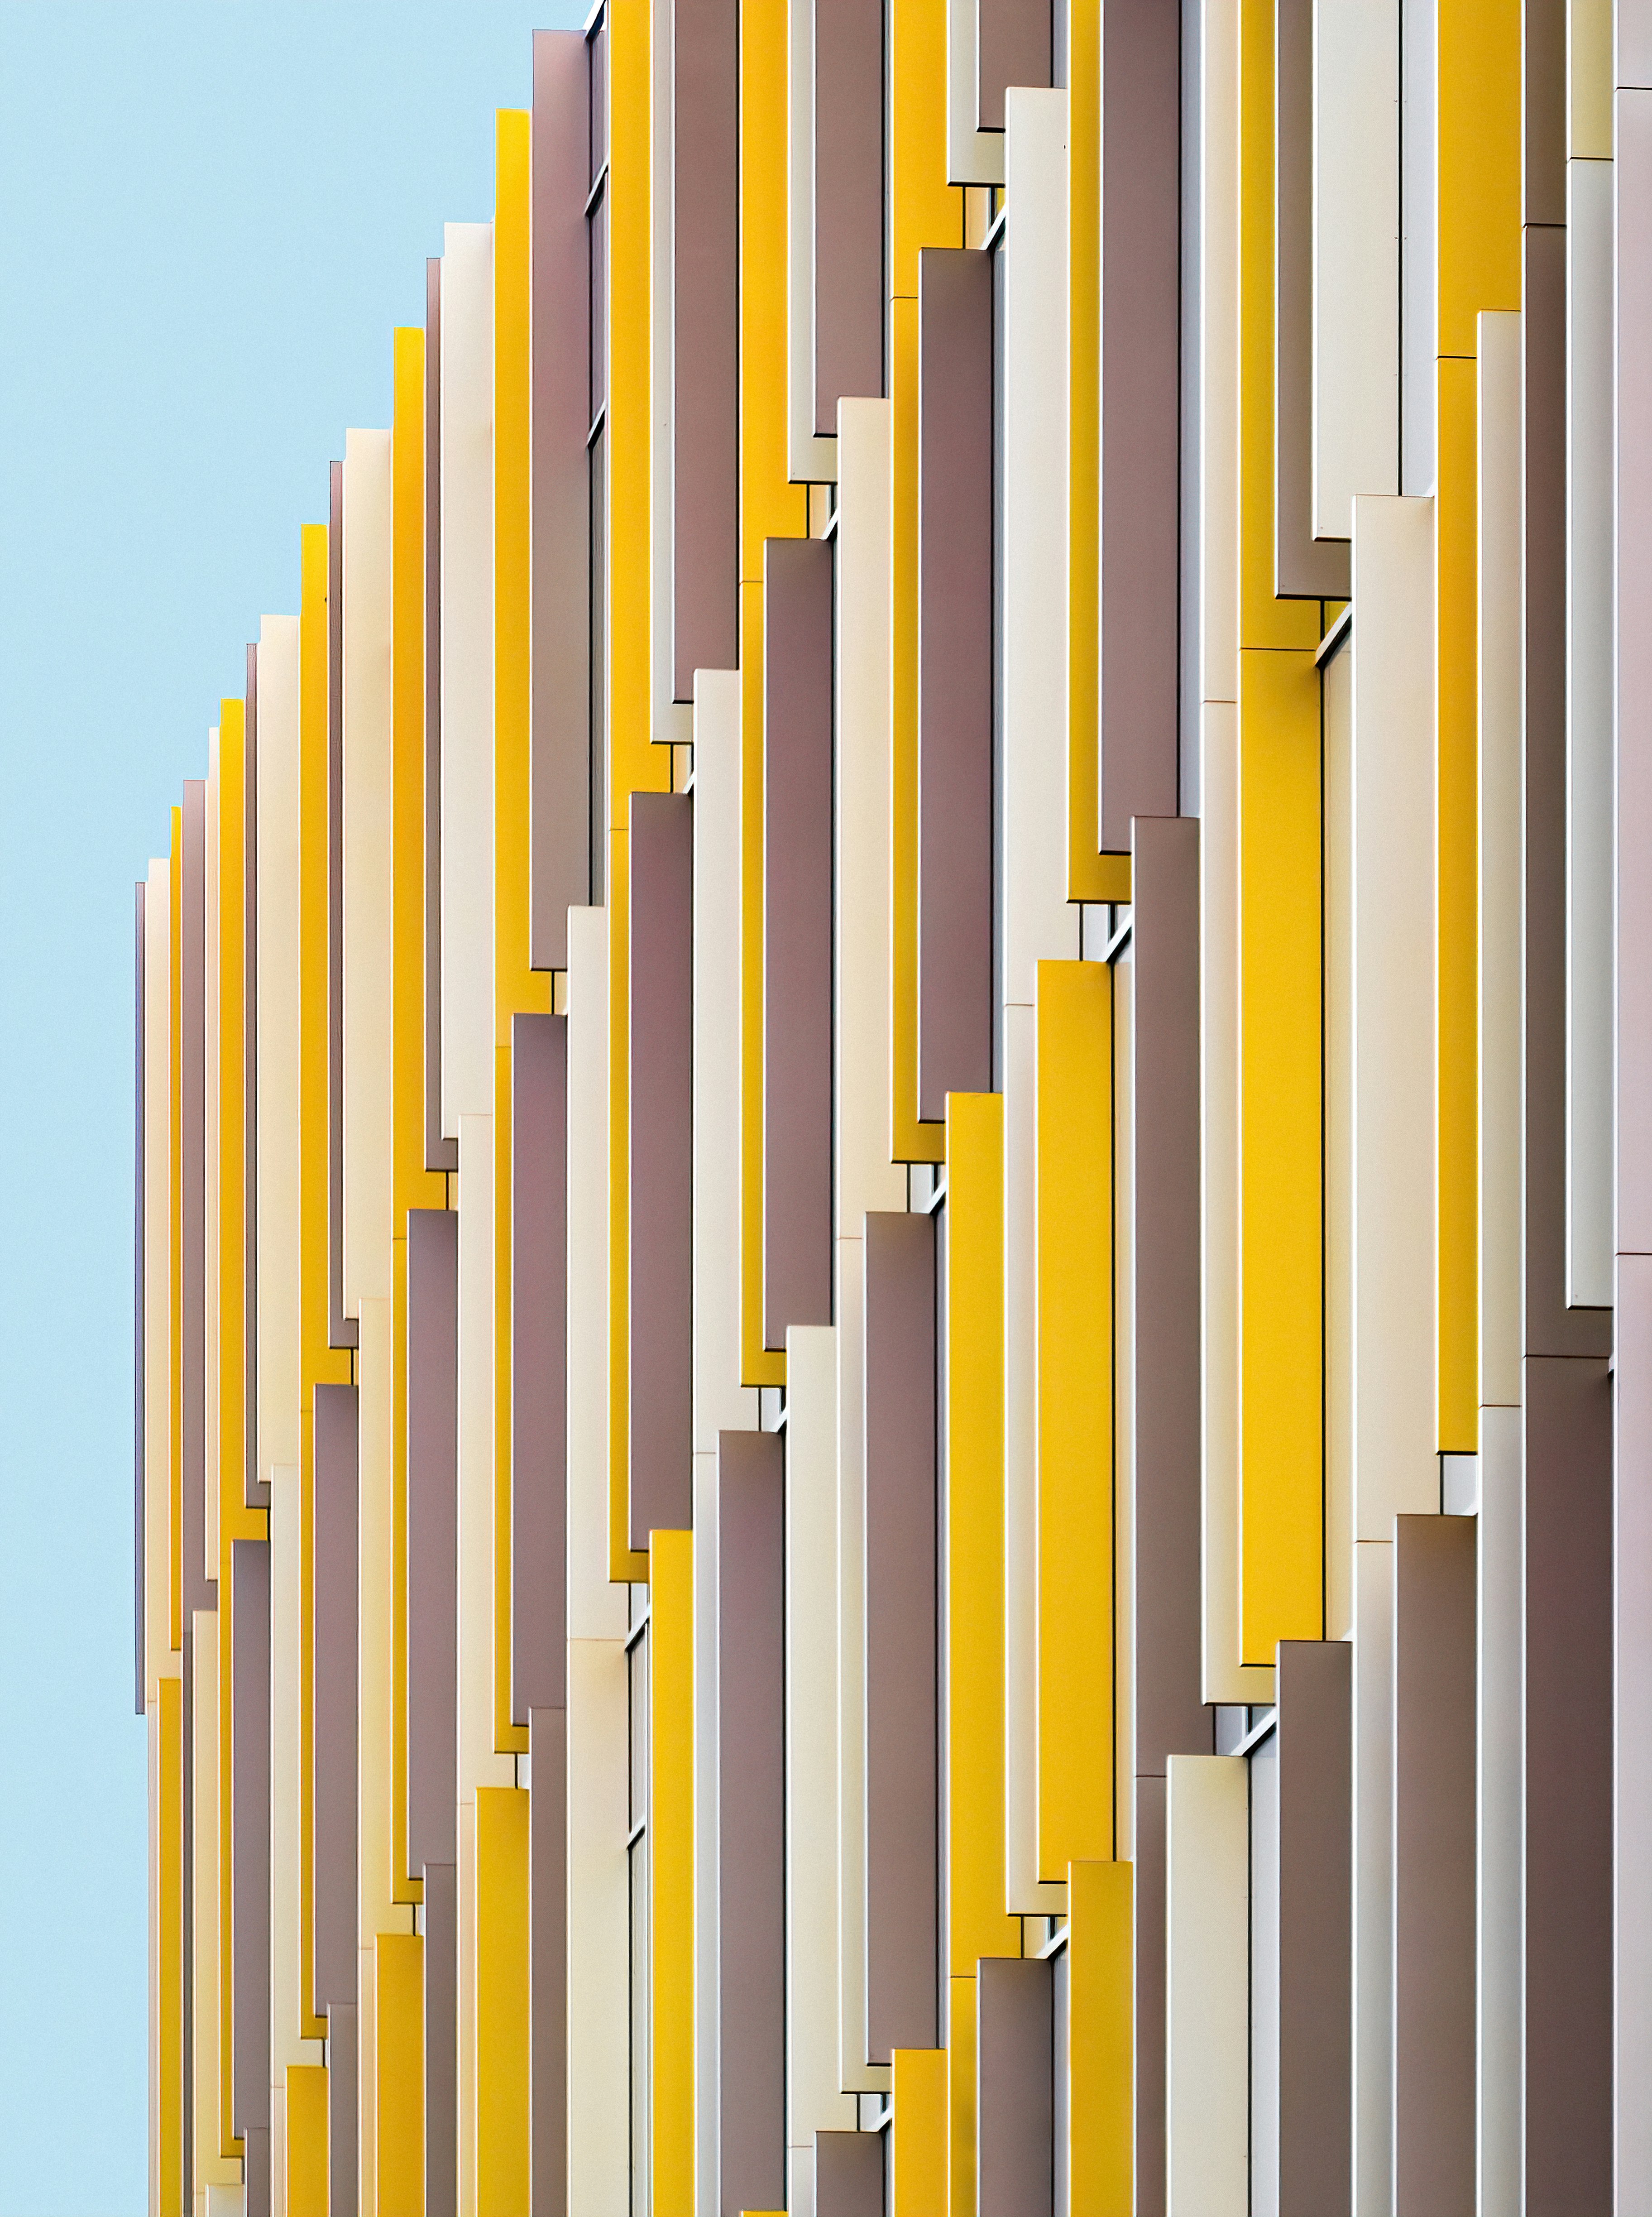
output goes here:
[[918, 1115], [993, 1069], [993, 264], [918, 255]]

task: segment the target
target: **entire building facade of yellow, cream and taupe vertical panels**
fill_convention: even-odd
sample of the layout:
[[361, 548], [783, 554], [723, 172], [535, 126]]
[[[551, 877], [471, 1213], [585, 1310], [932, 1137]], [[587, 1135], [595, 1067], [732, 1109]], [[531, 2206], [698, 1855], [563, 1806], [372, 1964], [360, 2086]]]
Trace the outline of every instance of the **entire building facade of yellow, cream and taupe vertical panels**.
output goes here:
[[151, 2208], [1643, 2217], [1652, 4], [497, 129], [137, 889]]

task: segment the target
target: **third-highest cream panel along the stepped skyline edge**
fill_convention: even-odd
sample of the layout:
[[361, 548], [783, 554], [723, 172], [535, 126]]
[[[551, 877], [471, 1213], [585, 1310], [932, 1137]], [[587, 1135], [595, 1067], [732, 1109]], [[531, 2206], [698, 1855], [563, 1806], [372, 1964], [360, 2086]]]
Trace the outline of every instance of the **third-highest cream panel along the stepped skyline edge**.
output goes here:
[[299, 1461], [299, 627], [257, 643], [257, 1452]]

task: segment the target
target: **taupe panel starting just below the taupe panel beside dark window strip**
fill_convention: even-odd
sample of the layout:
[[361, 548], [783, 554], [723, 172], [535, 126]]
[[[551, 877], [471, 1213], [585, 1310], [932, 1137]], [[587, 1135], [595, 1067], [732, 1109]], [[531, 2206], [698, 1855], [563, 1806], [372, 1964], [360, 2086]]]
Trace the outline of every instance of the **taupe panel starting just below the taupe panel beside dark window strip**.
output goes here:
[[510, 1703], [568, 1698], [568, 1018], [510, 1026]]

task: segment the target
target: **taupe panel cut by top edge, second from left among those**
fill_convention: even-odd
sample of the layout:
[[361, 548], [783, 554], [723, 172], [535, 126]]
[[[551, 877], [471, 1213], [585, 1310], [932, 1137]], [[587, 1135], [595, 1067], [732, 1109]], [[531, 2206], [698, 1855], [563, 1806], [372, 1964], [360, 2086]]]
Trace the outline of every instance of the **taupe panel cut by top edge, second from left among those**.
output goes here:
[[883, 399], [883, 0], [814, 0], [814, 428]]

